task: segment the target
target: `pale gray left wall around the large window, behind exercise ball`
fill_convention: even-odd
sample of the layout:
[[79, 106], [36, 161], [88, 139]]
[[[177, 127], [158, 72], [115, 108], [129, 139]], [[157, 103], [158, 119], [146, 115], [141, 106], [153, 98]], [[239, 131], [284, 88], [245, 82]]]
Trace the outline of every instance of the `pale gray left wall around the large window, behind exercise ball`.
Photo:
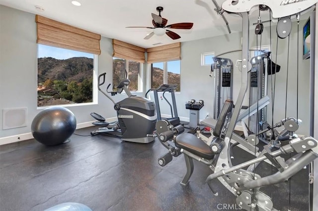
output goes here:
[[[111, 39], [101, 38], [98, 73], [112, 82]], [[37, 108], [37, 44], [35, 15], [0, 5], [0, 137], [29, 133]], [[116, 100], [123, 96], [116, 97]], [[2, 109], [27, 107], [27, 126], [2, 130]], [[92, 121], [90, 112], [116, 116], [112, 103], [98, 93], [98, 104], [70, 106], [78, 123]]]

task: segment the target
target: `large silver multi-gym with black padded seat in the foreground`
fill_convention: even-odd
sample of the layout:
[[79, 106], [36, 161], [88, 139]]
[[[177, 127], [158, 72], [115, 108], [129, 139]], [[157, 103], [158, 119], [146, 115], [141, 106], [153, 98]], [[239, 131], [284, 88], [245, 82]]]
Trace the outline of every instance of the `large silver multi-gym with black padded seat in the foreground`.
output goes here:
[[[277, 23], [277, 35], [283, 39], [288, 37], [291, 32], [292, 23], [290, 18], [296, 15], [299, 21], [300, 15], [310, 11], [317, 2], [318, 0], [225, 0], [222, 8], [217, 8], [218, 12], [238, 13], [242, 18], [241, 87], [235, 106], [232, 100], [227, 100], [224, 103], [213, 131], [215, 138], [210, 146], [197, 138], [196, 135], [182, 133], [183, 129], [181, 126], [173, 127], [168, 121], [164, 120], [157, 122], [156, 134], [160, 143], [168, 149], [168, 153], [158, 159], [159, 165], [164, 166], [173, 157], [183, 154], [187, 169], [181, 181], [182, 185], [188, 184], [194, 168], [193, 159], [195, 159], [206, 164], [213, 171], [207, 177], [206, 182], [215, 196], [218, 195], [218, 192], [215, 190], [213, 182], [215, 179], [218, 179], [236, 197], [239, 209], [248, 211], [277, 211], [274, 208], [272, 199], [261, 192], [261, 187], [289, 180], [290, 177], [318, 158], [318, 141], [315, 138], [311, 136], [294, 136], [300, 122], [297, 118], [293, 117], [285, 117], [278, 123], [270, 125], [270, 128], [268, 128], [272, 133], [268, 140], [270, 143], [264, 147], [264, 150], [259, 155], [255, 154], [256, 158], [243, 161], [237, 165], [233, 165], [230, 158], [230, 143], [233, 139], [235, 141], [239, 140], [236, 138], [234, 129], [239, 115], [241, 115], [239, 112], [248, 87], [248, 72], [252, 67], [248, 59], [249, 12], [255, 7], [269, 10], [272, 18], [279, 19]], [[259, 104], [260, 102], [257, 101], [256, 112], [260, 109]], [[250, 116], [250, 114], [247, 113], [247, 116]], [[281, 132], [275, 129], [282, 126], [285, 129], [281, 130]], [[245, 146], [256, 151], [257, 135], [264, 132], [266, 130], [259, 131], [254, 137], [243, 140], [244, 142], [241, 142], [242, 140], [237, 142], [239, 145], [244, 143]], [[278, 141], [284, 142], [284, 145], [278, 150], [271, 151], [270, 146], [272, 143]], [[289, 155], [286, 157], [287, 160], [282, 157], [283, 155]], [[276, 168], [277, 171], [266, 172], [267, 175], [261, 177], [261, 175], [254, 171], [254, 166], [265, 160], [268, 160], [272, 164], [272, 168]], [[272, 187], [277, 188], [278, 186]], [[291, 198], [291, 196], [289, 197]]]

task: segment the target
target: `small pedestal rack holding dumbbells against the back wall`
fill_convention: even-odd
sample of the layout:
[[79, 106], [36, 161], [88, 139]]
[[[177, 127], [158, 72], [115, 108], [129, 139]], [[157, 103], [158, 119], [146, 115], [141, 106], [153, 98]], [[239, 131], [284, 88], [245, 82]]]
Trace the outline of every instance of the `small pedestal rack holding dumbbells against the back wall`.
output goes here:
[[189, 109], [189, 124], [184, 125], [185, 128], [193, 129], [199, 125], [200, 122], [200, 109], [204, 106], [203, 100], [195, 102], [190, 100], [185, 104], [185, 109]]

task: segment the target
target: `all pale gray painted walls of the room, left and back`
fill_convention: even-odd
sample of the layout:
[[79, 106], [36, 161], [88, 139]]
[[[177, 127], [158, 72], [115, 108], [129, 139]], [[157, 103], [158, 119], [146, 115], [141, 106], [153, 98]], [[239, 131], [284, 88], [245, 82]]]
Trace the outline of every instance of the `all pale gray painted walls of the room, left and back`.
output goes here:
[[[37, 44], [35, 15], [20, 10], [0, 5], [0, 121], [2, 126], [2, 109], [27, 107], [27, 126], [21, 128], [2, 130], [0, 137], [7, 137], [30, 132], [30, 125], [34, 116], [41, 111], [37, 109], [36, 84], [37, 84]], [[303, 23], [301, 24], [301, 26]], [[295, 26], [295, 25], [294, 25]], [[302, 28], [302, 27], [300, 27]], [[272, 32], [276, 29], [273, 27]], [[265, 28], [262, 36], [262, 45], [269, 45], [269, 33]], [[273, 36], [274, 37], [274, 36]], [[287, 116], [296, 116], [296, 27], [293, 27], [290, 50], [290, 70], [288, 87], [288, 111]], [[256, 46], [256, 36], [251, 32], [250, 46]], [[300, 37], [300, 41], [302, 37]], [[190, 99], [204, 100], [205, 106], [200, 110], [200, 118], [204, 118], [207, 112], [213, 111], [213, 79], [209, 77], [210, 67], [201, 66], [201, 53], [212, 52], [216, 54], [240, 49], [241, 34], [233, 33], [226, 36], [218, 36], [209, 39], [185, 42], [181, 45], [181, 93], [176, 94], [178, 114], [181, 117], [189, 117], [189, 110], [185, 109], [185, 103]], [[279, 42], [278, 64], [282, 66], [277, 74], [276, 100], [274, 120], [284, 118], [285, 110], [285, 86], [286, 86], [286, 54], [287, 40]], [[302, 44], [302, 41], [300, 42]], [[276, 50], [276, 38], [273, 38], [273, 52]], [[106, 84], [112, 79], [112, 44], [111, 39], [102, 37], [100, 42], [101, 54], [98, 56], [98, 74], [107, 73]], [[302, 49], [300, 49], [300, 52]], [[240, 59], [240, 53], [225, 55], [233, 62]], [[274, 56], [274, 61], [275, 56]], [[299, 118], [303, 124], [299, 134], [308, 134], [308, 99], [309, 99], [309, 61], [302, 60], [300, 53], [300, 93]], [[144, 65], [146, 73], [146, 65]], [[148, 78], [146, 74], [143, 78]], [[144, 83], [146, 85], [147, 83]], [[234, 101], [238, 95], [240, 86], [240, 72], [234, 70]], [[269, 85], [270, 87], [270, 85]], [[143, 95], [141, 93], [140, 95]], [[123, 99], [125, 95], [115, 96], [115, 101]], [[248, 99], [244, 101], [248, 105]], [[97, 112], [106, 118], [116, 116], [112, 103], [98, 93], [98, 104], [87, 106], [70, 106], [78, 123], [92, 121], [90, 112]], [[168, 107], [162, 103], [161, 113], [169, 114]], [[270, 109], [269, 109], [270, 110]], [[271, 115], [269, 113], [269, 115]]]

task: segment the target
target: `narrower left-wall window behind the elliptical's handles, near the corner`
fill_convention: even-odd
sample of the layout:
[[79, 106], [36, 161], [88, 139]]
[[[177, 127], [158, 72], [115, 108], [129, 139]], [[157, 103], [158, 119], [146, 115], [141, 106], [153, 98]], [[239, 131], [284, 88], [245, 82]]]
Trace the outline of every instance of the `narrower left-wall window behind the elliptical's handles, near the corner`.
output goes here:
[[113, 57], [113, 86], [116, 86], [125, 77], [126, 70], [127, 78], [130, 80], [128, 89], [130, 91], [140, 91], [140, 68], [141, 65], [137, 61]]

